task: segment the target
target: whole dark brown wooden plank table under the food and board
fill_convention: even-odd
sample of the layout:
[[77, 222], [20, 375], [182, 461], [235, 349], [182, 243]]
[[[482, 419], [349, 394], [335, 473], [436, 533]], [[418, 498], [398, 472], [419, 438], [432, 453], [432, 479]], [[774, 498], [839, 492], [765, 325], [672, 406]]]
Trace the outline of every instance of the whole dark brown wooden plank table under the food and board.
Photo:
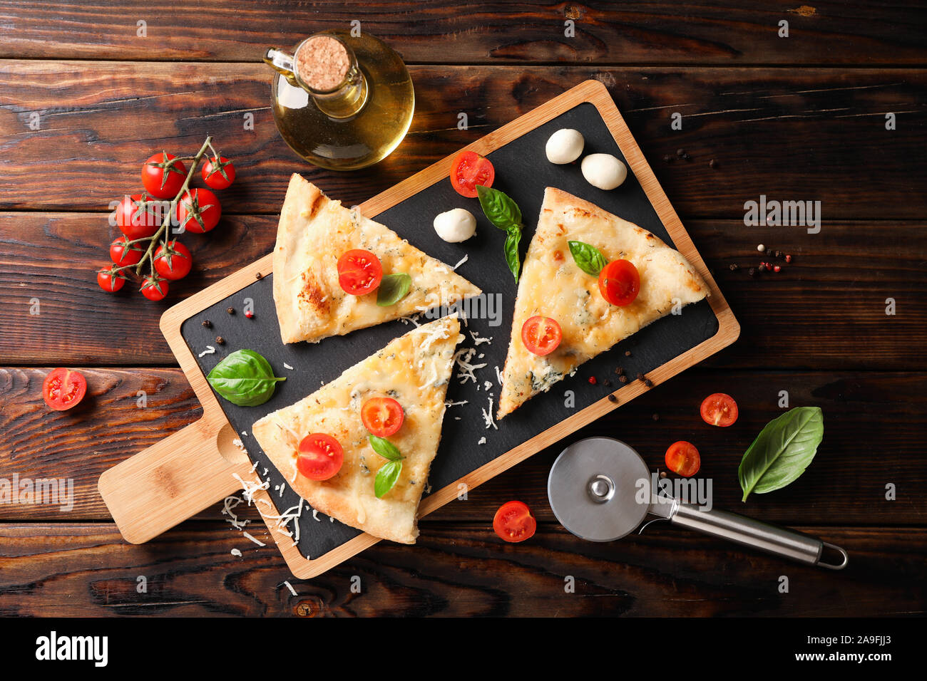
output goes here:
[[[70, 511], [0, 504], [0, 614], [923, 613], [927, 11], [916, 2], [755, 5], [0, 2], [0, 478], [74, 481]], [[280, 139], [260, 55], [353, 19], [400, 51], [418, 101], [391, 157], [338, 174], [302, 163]], [[291, 172], [360, 203], [589, 78], [614, 96], [743, 333], [581, 435], [619, 436], [654, 468], [667, 443], [698, 443], [717, 507], [844, 546], [844, 572], [662, 523], [620, 542], [581, 541], [546, 499], [563, 445], [428, 516], [414, 548], [383, 542], [311, 581], [290, 579], [298, 596], [282, 586], [289, 574], [263, 526], [253, 525], [269, 542], [259, 549], [218, 507], [143, 546], [121, 539], [96, 493], [100, 473], [200, 413], [159, 315], [272, 248]], [[670, 127], [676, 112], [680, 131]], [[153, 151], [190, 154], [207, 133], [239, 179], [224, 194], [220, 229], [188, 240], [196, 271], [163, 304], [104, 294], [94, 272], [115, 236], [109, 201], [138, 188]], [[691, 160], [664, 160], [679, 148]], [[745, 226], [744, 202], [760, 195], [820, 201], [820, 232]], [[794, 263], [750, 278], [758, 243]], [[40, 386], [55, 366], [85, 373], [87, 405], [44, 407]], [[701, 398], [716, 391], [740, 404], [730, 429], [699, 418]], [[781, 391], [791, 406], [823, 408], [824, 441], [792, 486], [742, 504], [737, 465], [781, 412]], [[540, 522], [521, 545], [490, 526], [510, 498]], [[575, 593], [565, 592], [569, 575]]]

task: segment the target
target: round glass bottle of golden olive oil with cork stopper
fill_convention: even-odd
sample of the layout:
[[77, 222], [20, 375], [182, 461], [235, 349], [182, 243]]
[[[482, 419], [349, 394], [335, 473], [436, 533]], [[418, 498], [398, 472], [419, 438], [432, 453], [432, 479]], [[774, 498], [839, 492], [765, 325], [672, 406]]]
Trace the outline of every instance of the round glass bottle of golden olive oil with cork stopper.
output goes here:
[[300, 157], [331, 170], [375, 164], [412, 123], [415, 94], [396, 52], [372, 35], [316, 33], [293, 55], [269, 49], [273, 118]]

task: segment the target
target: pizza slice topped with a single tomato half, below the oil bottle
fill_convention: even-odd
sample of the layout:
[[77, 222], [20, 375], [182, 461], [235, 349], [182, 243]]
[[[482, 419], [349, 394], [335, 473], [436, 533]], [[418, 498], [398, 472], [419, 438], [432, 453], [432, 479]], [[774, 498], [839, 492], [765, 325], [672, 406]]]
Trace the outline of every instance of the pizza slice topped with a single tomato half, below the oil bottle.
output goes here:
[[[381, 289], [401, 294], [404, 278], [389, 276], [399, 274], [411, 277], [408, 293], [378, 300]], [[379, 287], [378, 276], [388, 277]], [[273, 302], [284, 343], [316, 343], [479, 293], [399, 234], [344, 208], [300, 175], [290, 178], [273, 249]]]

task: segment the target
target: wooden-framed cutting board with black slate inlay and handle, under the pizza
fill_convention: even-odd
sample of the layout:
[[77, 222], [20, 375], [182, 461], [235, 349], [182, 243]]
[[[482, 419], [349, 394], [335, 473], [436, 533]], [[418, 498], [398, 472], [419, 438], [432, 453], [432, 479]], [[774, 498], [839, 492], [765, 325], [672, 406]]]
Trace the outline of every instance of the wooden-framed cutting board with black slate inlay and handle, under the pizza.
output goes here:
[[[584, 155], [603, 152], [624, 159], [629, 167], [628, 180], [618, 189], [604, 192], [585, 181], [578, 163], [549, 163], [544, 145], [560, 128], [583, 133]], [[675, 246], [705, 279], [711, 295], [586, 362], [575, 376], [533, 397], [498, 428], [488, 426], [482, 410], [490, 410], [491, 405], [494, 411], [498, 403], [496, 367], [501, 370], [504, 364], [517, 290], [502, 257], [504, 233], [485, 220], [476, 199], [453, 191], [448, 179], [453, 157], [364, 202], [360, 207], [363, 215], [376, 217], [429, 255], [451, 266], [466, 255], [457, 271], [486, 294], [478, 309], [481, 314], [467, 321], [466, 341], [460, 346], [476, 347], [472, 361], [485, 367], [476, 371], [476, 383], [451, 380], [447, 399], [465, 404], [452, 406], [445, 414], [420, 515], [458, 498], [648, 389], [638, 380], [618, 383], [616, 367], [631, 377], [645, 373], [658, 385], [729, 346], [740, 333], [724, 296], [602, 83], [583, 82], [464, 148], [489, 157], [496, 169], [493, 186], [512, 196], [521, 208], [526, 223], [523, 258], [544, 188], [555, 186], [635, 222]], [[476, 237], [464, 244], [447, 244], [438, 238], [431, 223], [439, 212], [458, 207], [477, 216]], [[242, 314], [245, 306], [254, 309], [253, 319]], [[235, 308], [236, 314], [230, 315], [226, 311], [229, 307]], [[210, 321], [211, 328], [202, 325], [204, 320]], [[251, 487], [267, 481], [266, 489], [253, 491], [254, 503], [297, 577], [321, 574], [374, 544], [378, 541], [375, 537], [321, 514], [313, 517], [311, 509], [284, 527], [269, 517], [298, 506], [299, 500], [250, 435], [250, 426], [334, 380], [408, 331], [411, 327], [407, 324], [390, 322], [326, 338], [319, 344], [284, 346], [273, 306], [271, 255], [168, 309], [161, 318], [161, 331], [203, 405], [203, 418], [100, 476], [100, 494], [122, 536], [133, 543], [145, 542], [234, 495], [243, 483]], [[222, 335], [224, 345], [215, 343], [216, 335]], [[492, 341], [476, 345], [476, 338]], [[209, 345], [216, 347], [216, 352], [200, 357]], [[213, 366], [242, 347], [260, 352], [276, 375], [287, 379], [260, 407], [236, 407], [217, 397], [206, 381]], [[590, 377], [596, 381], [590, 383]], [[605, 385], [605, 380], [613, 385]], [[480, 442], [481, 438], [485, 441]], [[248, 455], [236, 446], [235, 439], [248, 449]], [[299, 525], [298, 541], [293, 537], [295, 523]]]

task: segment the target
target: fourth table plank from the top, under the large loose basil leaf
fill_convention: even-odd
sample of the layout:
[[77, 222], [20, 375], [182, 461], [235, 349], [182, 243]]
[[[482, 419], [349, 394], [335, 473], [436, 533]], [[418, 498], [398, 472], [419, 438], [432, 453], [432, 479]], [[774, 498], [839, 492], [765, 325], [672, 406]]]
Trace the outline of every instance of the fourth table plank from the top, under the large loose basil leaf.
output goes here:
[[[0, 441], [0, 477], [19, 473], [20, 478], [74, 480], [73, 510], [0, 504], [0, 519], [108, 519], [96, 490], [100, 473], [202, 414], [180, 370], [82, 371], [90, 403], [75, 412], [52, 413], [40, 396], [46, 370], [0, 370], [0, 432], [5, 434]], [[489, 523], [510, 498], [522, 499], [541, 521], [553, 522], [546, 496], [553, 460], [569, 442], [608, 435], [637, 448], [653, 470], [664, 468], [663, 455], [672, 442], [695, 443], [702, 452], [700, 474], [712, 479], [717, 508], [773, 523], [923, 524], [927, 500], [917, 490], [927, 485], [921, 456], [925, 379], [927, 374], [921, 372], [692, 369], [479, 486], [465, 501], [433, 512], [428, 522]], [[137, 406], [139, 389], [147, 392], [145, 409]], [[603, 386], [603, 392], [607, 390]], [[781, 390], [788, 391], [791, 406], [818, 405], [824, 410], [824, 442], [814, 463], [792, 486], [755, 495], [743, 504], [737, 465], [756, 433], [781, 413]], [[710, 392], [727, 392], [737, 399], [741, 416], [730, 428], [713, 428], [700, 419], [698, 405]], [[475, 443], [479, 435], [475, 430]], [[884, 499], [888, 483], [898, 488], [895, 501]], [[257, 519], [253, 512], [243, 517]], [[218, 521], [222, 514], [212, 507], [197, 518]]]

